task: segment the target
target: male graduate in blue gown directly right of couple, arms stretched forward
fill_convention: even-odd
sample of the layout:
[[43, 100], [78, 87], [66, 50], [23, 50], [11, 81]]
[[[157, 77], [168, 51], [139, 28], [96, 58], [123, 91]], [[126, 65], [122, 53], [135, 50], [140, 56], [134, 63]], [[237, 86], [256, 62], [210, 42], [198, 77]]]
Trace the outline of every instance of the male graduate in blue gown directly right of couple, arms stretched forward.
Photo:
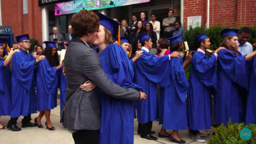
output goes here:
[[152, 48], [150, 36], [142, 34], [138, 37], [141, 42], [143, 54], [135, 61], [135, 80], [136, 84], [145, 89], [147, 99], [136, 103], [138, 116], [138, 133], [142, 138], [157, 140], [152, 136], [152, 122], [157, 119], [157, 87], [166, 87], [171, 84], [170, 69], [168, 68], [170, 59], [173, 55], [180, 55], [174, 52], [170, 55], [157, 57], [149, 53]]

